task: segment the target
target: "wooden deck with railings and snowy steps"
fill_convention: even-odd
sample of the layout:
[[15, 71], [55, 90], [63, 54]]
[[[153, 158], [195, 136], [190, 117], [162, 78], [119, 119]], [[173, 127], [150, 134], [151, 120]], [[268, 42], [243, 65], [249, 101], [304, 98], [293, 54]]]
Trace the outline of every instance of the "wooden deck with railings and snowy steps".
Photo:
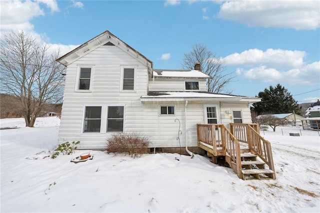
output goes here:
[[270, 142], [258, 132], [258, 124], [197, 124], [198, 147], [207, 151], [213, 163], [218, 156], [242, 179], [275, 179]]

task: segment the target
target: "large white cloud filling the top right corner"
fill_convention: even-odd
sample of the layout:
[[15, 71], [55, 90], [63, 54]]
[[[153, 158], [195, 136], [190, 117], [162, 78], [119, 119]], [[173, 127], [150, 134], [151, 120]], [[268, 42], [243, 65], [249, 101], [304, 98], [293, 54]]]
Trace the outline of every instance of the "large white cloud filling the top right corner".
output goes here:
[[320, 26], [318, 0], [226, 1], [217, 15], [249, 26], [316, 29]]

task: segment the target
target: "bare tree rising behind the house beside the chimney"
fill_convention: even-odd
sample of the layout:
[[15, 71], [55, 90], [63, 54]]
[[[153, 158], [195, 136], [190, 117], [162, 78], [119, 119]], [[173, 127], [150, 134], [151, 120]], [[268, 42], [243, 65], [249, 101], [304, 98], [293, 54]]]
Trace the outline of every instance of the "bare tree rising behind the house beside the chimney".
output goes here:
[[192, 50], [189, 53], [184, 53], [181, 65], [183, 69], [194, 69], [195, 63], [200, 64], [203, 73], [212, 77], [206, 82], [209, 92], [231, 93], [226, 89], [226, 85], [234, 78], [232, 75], [234, 71], [225, 73], [223, 61], [202, 43], [193, 44]]

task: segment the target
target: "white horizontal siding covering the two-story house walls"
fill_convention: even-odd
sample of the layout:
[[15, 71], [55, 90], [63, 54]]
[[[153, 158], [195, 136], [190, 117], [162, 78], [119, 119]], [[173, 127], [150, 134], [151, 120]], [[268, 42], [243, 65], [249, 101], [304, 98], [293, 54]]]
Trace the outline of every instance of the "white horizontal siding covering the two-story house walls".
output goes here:
[[[114, 44], [115, 46], [101, 44], [67, 66], [59, 127], [61, 141], [79, 140], [80, 149], [105, 148], [107, 139], [114, 133], [107, 132], [108, 106], [123, 106], [123, 132], [138, 132], [147, 136], [150, 147], [179, 147], [176, 140], [179, 123], [174, 121], [176, 118], [180, 121], [182, 131], [181, 145], [187, 135], [188, 145], [197, 146], [196, 123], [204, 122], [203, 104], [218, 105], [218, 123], [232, 122], [230, 114], [225, 113], [231, 109], [241, 109], [242, 121], [251, 122], [247, 103], [189, 101], [185, 126], [184, 101], [141, 102], [140, 97], [146, 95], [147, 91], [184, 91], [184, 81], [194, 79], [149, 79], [145, 64], [117, 47], [116, 42]], [[78, 92], [79, 67], [91, 67], [90, 92]], [[123, 68], [134, 68], [134, 92], [121, 89]], [[200, 91], [206, 91], [205, 79], [196, 80], [199, 81]], [[174, 105], [174, 116], [159, 116], [159, 105]], [[83, 132], [85, 106], [101, 107], [100, 132]]]

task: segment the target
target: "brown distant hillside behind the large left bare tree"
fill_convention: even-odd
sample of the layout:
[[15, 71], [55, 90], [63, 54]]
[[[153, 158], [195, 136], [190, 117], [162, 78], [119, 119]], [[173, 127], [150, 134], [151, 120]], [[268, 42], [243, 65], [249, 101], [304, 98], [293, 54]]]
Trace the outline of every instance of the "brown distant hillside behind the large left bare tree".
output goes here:
[[[43, 107], [43, 116], [46, 112], [61, 113], [62, 104], [45, 104]], [[0, 118], [22, 117], [23, 110], [19, 97], [10, 94], [0, 93]]]

